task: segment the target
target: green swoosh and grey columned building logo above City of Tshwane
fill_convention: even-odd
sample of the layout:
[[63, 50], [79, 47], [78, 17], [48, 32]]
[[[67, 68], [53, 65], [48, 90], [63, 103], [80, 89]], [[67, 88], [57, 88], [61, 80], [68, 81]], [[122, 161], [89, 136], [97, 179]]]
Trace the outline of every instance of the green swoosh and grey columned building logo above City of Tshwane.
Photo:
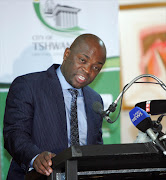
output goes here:
[[33, 0], [33, 5], [37, 17], [48, 28], [67, 33], [83, 30], [78, 26], [78, 13], [81, 9], [55, 4], [54, 0]]

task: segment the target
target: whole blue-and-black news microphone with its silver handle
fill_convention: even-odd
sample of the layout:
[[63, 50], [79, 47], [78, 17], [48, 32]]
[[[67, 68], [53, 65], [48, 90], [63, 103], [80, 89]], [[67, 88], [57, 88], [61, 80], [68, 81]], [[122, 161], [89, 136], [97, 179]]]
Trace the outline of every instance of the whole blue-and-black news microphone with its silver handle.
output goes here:
[[153, 124], [149, 114], [140, 107], [135, 107], [129, 112], [129, 115], [134, 126], [136, 126], [140, 131], [146, 132], [152, 141], [161, 149], [163, 154], [166, 155], [166, 148], [152, 130]]

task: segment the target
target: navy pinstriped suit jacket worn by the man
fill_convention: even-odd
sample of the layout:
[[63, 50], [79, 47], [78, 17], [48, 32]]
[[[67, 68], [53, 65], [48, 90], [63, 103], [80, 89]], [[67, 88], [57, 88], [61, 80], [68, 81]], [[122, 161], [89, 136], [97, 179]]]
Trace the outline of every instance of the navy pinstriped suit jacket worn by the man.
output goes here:
[[[9, 90], [4, 116], [4, 146], [13, 157], [8, 179], [24, 179], [35, 155], [55, 154], [68, 147], [64, 97], [55, 69], [16, 78]], [[92, 110], [101, 97], [83, 88], [87, 115], [87, 144], [102, 144], [102, 118]]]

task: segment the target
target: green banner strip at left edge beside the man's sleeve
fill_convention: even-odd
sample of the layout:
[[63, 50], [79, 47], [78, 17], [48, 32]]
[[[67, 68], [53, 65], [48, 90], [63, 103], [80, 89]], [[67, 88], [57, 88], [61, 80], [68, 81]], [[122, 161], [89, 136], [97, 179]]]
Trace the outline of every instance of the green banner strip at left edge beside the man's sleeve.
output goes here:
[[7, 172], [10, 165], [10, 159], [11, 156], [8, 154], [8, 152], [4, 149], [4, 143], [3, 143], [3, 117], [4, 117], [4, 111], [5, 111], [5, 103], [6, 103], [6, 97], [7, 97], [7, 87], [5, 85], [1, 85], [0, 88], [0, 146], [1, 146], [1, 179], [6, 180]]

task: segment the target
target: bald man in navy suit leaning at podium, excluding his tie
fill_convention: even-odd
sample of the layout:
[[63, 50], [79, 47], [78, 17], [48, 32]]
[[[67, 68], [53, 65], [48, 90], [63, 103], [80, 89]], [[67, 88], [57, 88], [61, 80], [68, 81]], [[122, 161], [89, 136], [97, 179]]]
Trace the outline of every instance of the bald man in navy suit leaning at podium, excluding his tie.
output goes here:
[[79, 144], [103, 143], [102, 118], [92, 110], [93, 103], [102, 99], [87, 85], [105, 60], [103, 41], [83, 34], [66, 48], [62, 65], [13, 81], [4, 116], [4, 146], [13, 157], [9, 180], [23, 180], [30, 168], [49, 176], [51, 158], [71, 145], [68, 88], [78, 90]]

